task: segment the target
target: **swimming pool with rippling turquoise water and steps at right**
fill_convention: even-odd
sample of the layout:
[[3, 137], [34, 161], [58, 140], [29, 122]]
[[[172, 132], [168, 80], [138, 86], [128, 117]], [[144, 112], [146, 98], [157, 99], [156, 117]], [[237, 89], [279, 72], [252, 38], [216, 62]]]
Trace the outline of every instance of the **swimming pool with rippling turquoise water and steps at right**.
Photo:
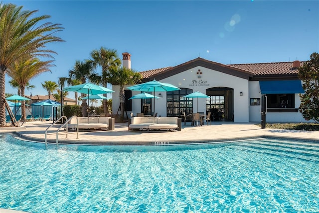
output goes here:
[[319, 144], [47, 145], [0, 135], [0, 208], [32, 213], [319, 212]]

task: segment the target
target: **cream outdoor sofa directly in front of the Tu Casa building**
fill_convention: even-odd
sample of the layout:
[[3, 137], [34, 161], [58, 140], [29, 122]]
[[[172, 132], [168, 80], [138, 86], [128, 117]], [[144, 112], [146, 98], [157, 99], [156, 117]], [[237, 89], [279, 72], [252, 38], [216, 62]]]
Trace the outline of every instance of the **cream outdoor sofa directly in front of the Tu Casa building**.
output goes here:
[[177, 117], [133, 117], [129, 119], [129, 130], [181, 131], [181, 119]]

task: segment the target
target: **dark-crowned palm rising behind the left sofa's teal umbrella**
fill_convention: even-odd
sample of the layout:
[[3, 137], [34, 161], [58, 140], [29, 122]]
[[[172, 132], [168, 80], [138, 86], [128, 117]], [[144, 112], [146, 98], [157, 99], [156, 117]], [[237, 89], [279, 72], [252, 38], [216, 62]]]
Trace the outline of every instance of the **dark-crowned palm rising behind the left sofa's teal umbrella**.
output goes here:
[[[94, 66], [90, 62], [75, 61], [73, 69], [69, 70], [69, 78], [72, 80], [78, 80], [80, 84], [84, 84], [87, 81], [90, 83], [99, 84], [101, 82], [101, 76], [95, 72]], [[85, 94], [81, 94], [82, 98]], [[82, 115], [87, 116], [88, 106], [86, 100], [82, 99]]]

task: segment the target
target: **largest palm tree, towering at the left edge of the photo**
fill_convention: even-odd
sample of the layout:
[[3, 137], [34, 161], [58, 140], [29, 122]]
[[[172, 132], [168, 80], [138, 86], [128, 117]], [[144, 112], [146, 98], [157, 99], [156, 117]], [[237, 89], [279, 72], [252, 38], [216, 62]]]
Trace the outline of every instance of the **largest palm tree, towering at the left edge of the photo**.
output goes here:
[[22, 10], [23, 6], [0, 1], [0, 127], [5, 126], [5, 74], [8, 67], [25, 55], [52, 57], [47, 49], [51, 42], [63, 41], [55, 36], [61, 24], [44, 22], [50, 15], [35, 16], [37, 10]]

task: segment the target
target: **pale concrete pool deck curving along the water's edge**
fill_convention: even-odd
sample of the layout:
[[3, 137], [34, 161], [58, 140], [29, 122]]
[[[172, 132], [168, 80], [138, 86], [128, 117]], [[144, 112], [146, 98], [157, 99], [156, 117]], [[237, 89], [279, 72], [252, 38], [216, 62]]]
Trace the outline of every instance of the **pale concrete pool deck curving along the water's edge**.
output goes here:
[[[21, 128], [1, 128], [0, 133], [16, 132], [26, 140], [44, 142], [44, 133], [52, 121], [25, 122]], [[54, 132], [60, 125], [48, 132]], [[319, 142], [319, 131], [282, 129], [261, 129], [256, 123], [212, 122], [212, 125], [190, 126], [182, 124], [180, 132], [138, 132], [128, 131], [128, 123], [116, 123], [113, 131], [88, 131], [76, 134], [59, 135], [59, 143], [96, 145], [164, 145], [233, 141], [251, 138], [287, 138]], [[55, 143], [56, 134], [47, 136], [49, 143]]]

